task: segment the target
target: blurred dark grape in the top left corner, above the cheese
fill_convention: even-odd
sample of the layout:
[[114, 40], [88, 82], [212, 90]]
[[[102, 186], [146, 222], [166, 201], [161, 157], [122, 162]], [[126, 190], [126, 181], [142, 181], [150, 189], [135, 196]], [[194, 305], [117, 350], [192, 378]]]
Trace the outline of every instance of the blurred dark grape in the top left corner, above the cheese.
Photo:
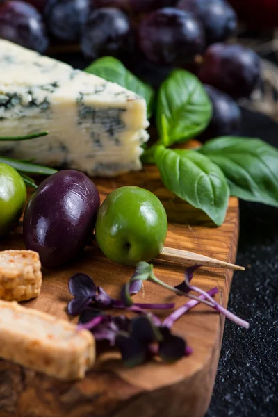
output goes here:
[[0, 38], [40, 53], [49, 44], [42, 16], [24, 1], [8, 1], [0, 6]]

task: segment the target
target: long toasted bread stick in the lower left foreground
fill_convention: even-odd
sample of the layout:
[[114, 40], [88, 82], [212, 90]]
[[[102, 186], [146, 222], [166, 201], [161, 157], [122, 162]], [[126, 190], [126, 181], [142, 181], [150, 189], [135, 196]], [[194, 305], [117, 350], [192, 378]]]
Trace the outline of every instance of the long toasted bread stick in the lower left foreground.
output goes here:
[[0, 301], [0, 357], [57, 379], [85, 376], [95, 362], [95, 338], [66, 320]]

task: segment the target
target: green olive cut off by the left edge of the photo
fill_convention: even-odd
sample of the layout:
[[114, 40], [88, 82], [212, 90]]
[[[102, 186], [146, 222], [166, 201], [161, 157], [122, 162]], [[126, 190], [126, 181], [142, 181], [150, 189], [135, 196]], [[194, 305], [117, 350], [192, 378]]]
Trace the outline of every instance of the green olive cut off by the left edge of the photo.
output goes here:
[[26, 186], [10, 165], [0, 163], [0, 236], [17, 226], [26, 202]]

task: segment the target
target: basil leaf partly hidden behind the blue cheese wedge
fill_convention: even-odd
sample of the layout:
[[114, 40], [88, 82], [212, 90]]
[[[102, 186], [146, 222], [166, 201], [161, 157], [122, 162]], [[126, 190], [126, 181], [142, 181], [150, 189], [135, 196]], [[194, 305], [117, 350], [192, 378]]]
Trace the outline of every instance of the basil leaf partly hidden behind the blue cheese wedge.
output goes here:
[[113, 58], [113, 56], [104, 56], [95, 60], [89, 67], [85, 68], [86, 72], [101, 76], [101, 78], [122, 85], [136, 92], [146, 100], [147, 103], [147, 117], [151, 117], [154, 108], [154, 89], [147, 83], [144, 83], [132, 72], [126, 69], [120, 60]]

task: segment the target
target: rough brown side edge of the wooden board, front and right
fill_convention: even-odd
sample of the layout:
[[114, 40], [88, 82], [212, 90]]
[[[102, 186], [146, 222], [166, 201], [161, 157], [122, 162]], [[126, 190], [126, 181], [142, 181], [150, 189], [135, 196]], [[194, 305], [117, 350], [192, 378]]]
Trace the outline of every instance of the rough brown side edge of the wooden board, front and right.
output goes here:
[[[238, 216], [231, 240], [230, 262], [236, 261], [237, 245]], [[225, 285], [228, 289], [232, 276], [233, 272], [227, 270]], [[222, 299], [222, 304], [226, 305], [227, 300]], [[224, 318], [218, 316], [218, 320], [218, 338], [205, 366], [188, 379], [154, 391], [140, 389], [119, 375], [108, 371], [100, 373], [98, 370], [91, 370], [82, 381], [61, 383], [2, 360], [0, 417], [130, 417], [132, 414], [144, 417], [204, 416], [211, 400], [222, 343]], [[202, 391], [199, 386], [203, 387]]]

